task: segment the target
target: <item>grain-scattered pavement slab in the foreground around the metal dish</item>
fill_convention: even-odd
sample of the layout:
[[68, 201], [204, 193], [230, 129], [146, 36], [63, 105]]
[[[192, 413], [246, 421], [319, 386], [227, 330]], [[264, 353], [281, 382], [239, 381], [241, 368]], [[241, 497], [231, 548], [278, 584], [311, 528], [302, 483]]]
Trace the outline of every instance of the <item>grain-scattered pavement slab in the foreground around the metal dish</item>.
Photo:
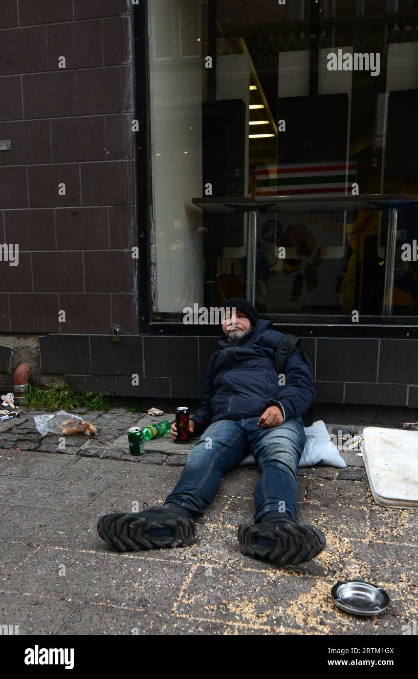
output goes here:
[[175, 612], [222, 623], [242, 621], [247, 627], [273, 625], [285, 634], [401, 634], [402, 625], [412, 619], [411, 591], [392, 589], [390, 613], [360, 618], [336, 607], [330, 596], [333, 585], [333, 579], [291, 572], [228, 572], [205, 566], [194, 571]]

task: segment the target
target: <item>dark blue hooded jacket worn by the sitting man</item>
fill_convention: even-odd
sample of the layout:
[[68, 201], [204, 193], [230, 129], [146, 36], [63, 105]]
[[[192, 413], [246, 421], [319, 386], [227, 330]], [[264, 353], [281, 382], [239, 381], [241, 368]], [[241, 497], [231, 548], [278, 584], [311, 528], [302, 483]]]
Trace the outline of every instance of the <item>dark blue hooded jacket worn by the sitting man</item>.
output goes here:
[[271, 320], [259, 319], [237, 346], [228, 339], [218, 342], [207, 365], [201, 407], [191, 418], [195, 434], [217, 420], [260, 417], [269, 405], [280, 405], [285, 420], [312, 405], [313, 377], [298, 348], [289, 355], [285, 384], [279, 384], [275, 350], [281, 337]]

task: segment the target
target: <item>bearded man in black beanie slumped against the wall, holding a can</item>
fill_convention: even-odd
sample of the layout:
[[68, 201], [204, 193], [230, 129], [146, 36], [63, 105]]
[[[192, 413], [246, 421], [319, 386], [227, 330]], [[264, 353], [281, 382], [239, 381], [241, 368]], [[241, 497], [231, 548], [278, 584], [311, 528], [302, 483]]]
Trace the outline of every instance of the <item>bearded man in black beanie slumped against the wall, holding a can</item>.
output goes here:
[[[162, 507], [107, 514], [97, 530], [121, 551], [190, 545], [194, 519], [217, 494], [222, 476], [252, 452], [260, 479], [254, 524], [239, 526], [240, 549], [273, 563], [300, 564], [326, 545], [323, 532], [296, 521], [296, 471], [307, 441], [302, 414], [315, 397], [313, 377], [294, 348], [285, 380], [279, 379], [275, 350], [282, 333], [273, 330], [270, 320], [259, 319], [246, 299], [229, 299], [224, 308], [232, 313], [209, 359], [201, 407], [190, 419], [190, 434], [201, 437], [177, 485]], [[177, 437], [174, 423], [171, 437]]]

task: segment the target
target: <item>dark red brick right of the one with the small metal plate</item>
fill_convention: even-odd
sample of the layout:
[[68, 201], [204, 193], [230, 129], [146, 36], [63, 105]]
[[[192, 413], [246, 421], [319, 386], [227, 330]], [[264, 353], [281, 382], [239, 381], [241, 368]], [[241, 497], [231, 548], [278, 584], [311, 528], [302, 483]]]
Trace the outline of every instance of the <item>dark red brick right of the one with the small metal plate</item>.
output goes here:
[[106, 160], [102, 115], [51, 120], [51, 135], [54, 163]]

